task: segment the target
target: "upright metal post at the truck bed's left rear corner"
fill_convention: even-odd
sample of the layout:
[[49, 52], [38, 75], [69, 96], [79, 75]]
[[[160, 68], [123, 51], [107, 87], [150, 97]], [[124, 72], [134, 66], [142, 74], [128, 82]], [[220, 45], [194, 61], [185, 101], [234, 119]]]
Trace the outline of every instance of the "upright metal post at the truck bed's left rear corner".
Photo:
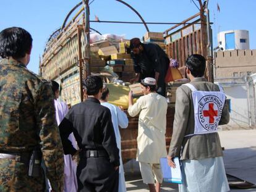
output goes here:
[[85, 57], [83, 58], [83, 78], [90, 75], [90, 7], [88, 5], [89, 0], [83, 0], [83, 7], [85, 12]]

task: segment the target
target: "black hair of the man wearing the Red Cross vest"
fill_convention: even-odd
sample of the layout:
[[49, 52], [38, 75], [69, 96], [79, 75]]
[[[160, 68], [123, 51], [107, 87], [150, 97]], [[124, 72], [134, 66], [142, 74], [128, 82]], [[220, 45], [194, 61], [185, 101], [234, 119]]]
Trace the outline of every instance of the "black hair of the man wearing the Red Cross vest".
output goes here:
[[186, 66], [194, 77], [203, 77], [205, 73], [205, 57], [199, 54], [192, 54], [186, 60]]

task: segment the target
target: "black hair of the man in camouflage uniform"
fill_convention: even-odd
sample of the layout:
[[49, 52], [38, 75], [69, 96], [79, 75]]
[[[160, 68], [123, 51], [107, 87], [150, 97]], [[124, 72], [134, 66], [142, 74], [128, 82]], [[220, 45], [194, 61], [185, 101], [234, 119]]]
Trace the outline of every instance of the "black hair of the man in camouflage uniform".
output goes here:
[[0, 32], [0, 56], [20, 59], [30, 54], [32, 36], [28, 31], [19, 27], [6, 28]]

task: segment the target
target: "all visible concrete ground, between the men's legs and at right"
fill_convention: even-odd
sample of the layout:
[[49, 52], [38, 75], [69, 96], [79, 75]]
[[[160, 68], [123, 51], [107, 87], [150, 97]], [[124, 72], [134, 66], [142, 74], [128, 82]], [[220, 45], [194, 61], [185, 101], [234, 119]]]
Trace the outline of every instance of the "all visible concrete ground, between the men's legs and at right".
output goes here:
[[[226, 173], [256, 185], [256, 130], [219, 131], [221, 146], [224, 147], [224, 165]], [[127, 191], [148, 191], [143, 184], [139, 165], [135, 160], [124, 165]], [[177, 184], [163, 183], [161, 191], [179, 191]], [[231, 192], [256, 192], [231, 189]]]

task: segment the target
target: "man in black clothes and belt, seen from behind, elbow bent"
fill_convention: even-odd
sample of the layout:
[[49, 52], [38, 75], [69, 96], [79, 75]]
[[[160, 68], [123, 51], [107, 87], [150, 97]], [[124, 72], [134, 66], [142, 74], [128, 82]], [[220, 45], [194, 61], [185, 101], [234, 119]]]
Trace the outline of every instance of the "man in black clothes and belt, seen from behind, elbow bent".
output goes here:
[[[101, 106], [103, 81], [100, 76], [83, 80], [85, 102], [73, 106], [59, 125], [65, 154], [79, 152], [77, 191], [118, 191], [119, 149], [116, 144], [111, 112]], [[68, 137], [74, 133], [80, 151]]]

